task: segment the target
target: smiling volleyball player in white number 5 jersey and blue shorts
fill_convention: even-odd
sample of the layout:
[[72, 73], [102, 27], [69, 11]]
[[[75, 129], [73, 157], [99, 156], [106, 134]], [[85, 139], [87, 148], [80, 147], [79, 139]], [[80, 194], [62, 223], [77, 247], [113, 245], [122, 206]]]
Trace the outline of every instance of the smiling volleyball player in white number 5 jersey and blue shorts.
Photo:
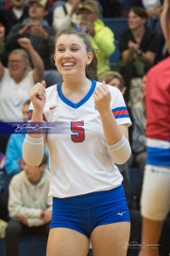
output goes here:
[[94, 81], [97, 59], [83, 27], [59, 32], [54, 60], [63, 82], [46, 90], [38, 82], [29, 91], [30, 123], [46, 120], [54, 132], [28, 133], [23, 145], [32, 166], [42, 161], [45, 143], [49, 149], [53, 217], [46, 255], [86, 256], [91, 238], [94, 255], [126, 256], [129, 213], [114, 164], [131, 152], [125, 101], [117, 88]]

